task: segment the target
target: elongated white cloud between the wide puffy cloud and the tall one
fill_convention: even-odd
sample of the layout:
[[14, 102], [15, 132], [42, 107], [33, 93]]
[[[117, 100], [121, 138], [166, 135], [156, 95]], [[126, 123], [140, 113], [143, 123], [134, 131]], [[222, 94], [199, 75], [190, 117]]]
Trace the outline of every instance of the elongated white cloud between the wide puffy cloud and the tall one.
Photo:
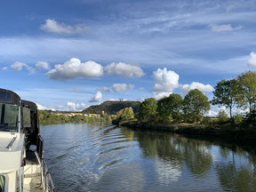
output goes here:
[[143, 70], [131, 64], [126, 64], [124, 62], [110, 63], [105, 67], [108, 75], [116, 74], [117, 76], [124, 76], [128, 78], [140, 78], [145, 76]]

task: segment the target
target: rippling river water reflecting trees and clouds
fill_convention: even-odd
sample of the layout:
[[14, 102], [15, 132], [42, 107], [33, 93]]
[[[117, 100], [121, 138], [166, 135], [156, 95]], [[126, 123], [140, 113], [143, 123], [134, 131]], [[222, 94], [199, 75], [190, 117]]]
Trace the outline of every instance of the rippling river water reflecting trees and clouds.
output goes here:
[[256, 191], [256, 149], [112, 124], [41, 127], [58, 191]]

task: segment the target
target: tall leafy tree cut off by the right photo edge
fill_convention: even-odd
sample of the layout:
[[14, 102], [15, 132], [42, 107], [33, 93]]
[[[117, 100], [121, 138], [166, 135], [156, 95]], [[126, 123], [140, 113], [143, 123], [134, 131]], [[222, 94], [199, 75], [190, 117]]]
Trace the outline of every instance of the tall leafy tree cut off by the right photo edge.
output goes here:
[[238, 76], [237, 79], [241, 90], [239, 103], [241, 106], [248, 105], [251, 114], [252, 106], [256, 101], [256, 72], [248, 71]]

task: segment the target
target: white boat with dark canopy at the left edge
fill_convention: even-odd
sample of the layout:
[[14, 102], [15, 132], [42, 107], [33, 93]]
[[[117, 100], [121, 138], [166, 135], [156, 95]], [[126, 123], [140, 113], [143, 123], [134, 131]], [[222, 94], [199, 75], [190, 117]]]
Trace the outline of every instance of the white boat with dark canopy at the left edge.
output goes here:
[[0, 89], [0, 192], [55, 191], [36, 104]]

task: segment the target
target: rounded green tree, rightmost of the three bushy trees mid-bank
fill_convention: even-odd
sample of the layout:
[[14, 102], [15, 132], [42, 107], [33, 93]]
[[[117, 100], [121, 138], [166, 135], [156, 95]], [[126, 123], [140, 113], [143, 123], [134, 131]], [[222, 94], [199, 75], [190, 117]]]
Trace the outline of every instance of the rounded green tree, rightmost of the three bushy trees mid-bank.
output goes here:
[[210, 110], [210, 102], [203, 92], [191, 90], [183, 101], [183, 112], [188, 121], [197, 122]]

